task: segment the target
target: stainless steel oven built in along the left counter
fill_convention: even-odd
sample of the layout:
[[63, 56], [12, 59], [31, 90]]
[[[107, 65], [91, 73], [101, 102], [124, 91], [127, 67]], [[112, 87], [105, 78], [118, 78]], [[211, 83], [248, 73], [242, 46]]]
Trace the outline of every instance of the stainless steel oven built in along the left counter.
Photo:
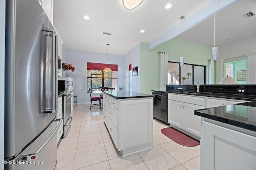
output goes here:
[[66, 96], [63, 96], [63, 137], [66, 137], [71, 128], [71, 98], [71, 92], [67, 93]]

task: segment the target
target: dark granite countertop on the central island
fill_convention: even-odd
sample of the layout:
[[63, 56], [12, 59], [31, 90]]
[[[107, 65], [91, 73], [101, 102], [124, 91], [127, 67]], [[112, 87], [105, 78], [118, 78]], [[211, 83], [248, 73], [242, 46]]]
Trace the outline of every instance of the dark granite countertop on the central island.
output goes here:
[[129, 98], [149, 98], [154, 97], [152, 94], [144, 94], [144, 93], [137, 93], [137, 92], [130, 92], [124, 90], [110, 90], [104, 91], [104, 94], [107, 94], [116, 99], [129, 99]]

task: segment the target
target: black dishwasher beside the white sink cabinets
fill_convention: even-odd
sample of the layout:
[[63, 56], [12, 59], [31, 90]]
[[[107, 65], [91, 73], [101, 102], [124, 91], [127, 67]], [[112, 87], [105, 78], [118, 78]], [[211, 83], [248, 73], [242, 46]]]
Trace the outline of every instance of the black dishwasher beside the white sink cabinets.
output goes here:
[[[168, 94], [165, 92], [153, 91], [154, 95], [154, 107], [153, 116], [154, 118], [168, 123]], [[169, 124], [170, 125], [170, 124]]]

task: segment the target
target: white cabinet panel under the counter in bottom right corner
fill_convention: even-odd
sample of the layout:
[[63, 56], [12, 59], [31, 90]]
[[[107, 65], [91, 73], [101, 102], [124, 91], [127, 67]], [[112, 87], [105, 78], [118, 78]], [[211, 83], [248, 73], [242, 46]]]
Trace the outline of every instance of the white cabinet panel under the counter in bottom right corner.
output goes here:
[[[216, 122], [218, 123], [218, 122]], [[256, 136], [249, 130], [228, 128], [203, 121], [201, 140], [202, 170], [255, 170]]]

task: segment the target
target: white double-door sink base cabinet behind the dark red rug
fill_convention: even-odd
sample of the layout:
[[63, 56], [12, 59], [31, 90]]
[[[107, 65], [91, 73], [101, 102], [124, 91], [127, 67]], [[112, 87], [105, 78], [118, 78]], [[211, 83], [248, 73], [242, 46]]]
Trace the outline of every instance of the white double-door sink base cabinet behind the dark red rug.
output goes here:
[[[176, 98], [176, 100], [182, 101], [185, 100], [186, 96], [179, 96], [177, 98], [177, 95], [174, 95], [169, 98]], [[197, 100], [200, 101], [202, 98], [193, 97], [192, 101], [196, 102]], [[202, 102], [202, 104], [204, 104], [204, 102]], [[201, 137], [201, 117], [194, 115], [194, 110], [197, 109], [204, 109], [204, 106], [168, 100], [168, 123], [188, 131], [197, 137]]]

